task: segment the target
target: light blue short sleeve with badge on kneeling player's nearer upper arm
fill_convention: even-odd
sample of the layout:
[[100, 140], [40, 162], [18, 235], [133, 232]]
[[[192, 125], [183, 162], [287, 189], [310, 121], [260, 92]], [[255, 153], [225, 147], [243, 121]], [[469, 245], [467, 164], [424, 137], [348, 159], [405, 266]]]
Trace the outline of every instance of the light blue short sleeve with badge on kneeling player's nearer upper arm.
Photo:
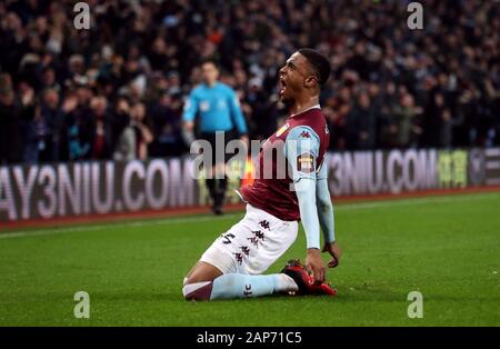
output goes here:
[[292, 170], [293, 182], [301, 178], [317, 178], [320, 138], [307, 126], [294, 127], [287, 136], [284, 156]]

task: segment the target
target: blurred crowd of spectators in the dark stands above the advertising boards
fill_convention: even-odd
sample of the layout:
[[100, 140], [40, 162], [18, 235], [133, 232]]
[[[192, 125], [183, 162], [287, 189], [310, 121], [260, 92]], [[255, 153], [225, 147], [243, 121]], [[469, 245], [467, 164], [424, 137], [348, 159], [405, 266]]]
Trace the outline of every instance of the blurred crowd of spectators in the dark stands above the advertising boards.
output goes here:
[[0, 163], [147, 159], [189, 151], [183, 100], [220, 62], [252, 139], [286, 117], [277, 72], [328, 54], [332, 150], [500, 144], [500, 2], [89, 0], [0, 2]]

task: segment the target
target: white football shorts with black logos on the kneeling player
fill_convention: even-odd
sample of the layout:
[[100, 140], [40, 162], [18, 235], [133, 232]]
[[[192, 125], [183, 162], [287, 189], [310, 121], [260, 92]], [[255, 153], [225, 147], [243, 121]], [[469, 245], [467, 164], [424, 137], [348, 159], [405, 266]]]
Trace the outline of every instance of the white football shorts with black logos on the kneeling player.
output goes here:
[[222, 273], [263, 273], [296, 241], [298, 221], [284, 221], [247, 203], [243, 219], [201, 256]]

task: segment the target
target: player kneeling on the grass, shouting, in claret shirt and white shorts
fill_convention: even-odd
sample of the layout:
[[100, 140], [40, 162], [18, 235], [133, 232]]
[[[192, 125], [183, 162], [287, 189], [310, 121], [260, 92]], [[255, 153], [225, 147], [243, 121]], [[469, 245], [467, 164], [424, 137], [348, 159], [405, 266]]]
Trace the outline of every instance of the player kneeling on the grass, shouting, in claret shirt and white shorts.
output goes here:
[[[336, 293], [326, 282], [320, 253], [321, 227], [322, 250], [332, 257], [328, 266], [339, 265], [324, 164], [330, 133], [319, 104], [329, 74], [328, 59], [312, 49], [298, 50], [281, 68], [280, 99], [291, 106], [291, 114], [264, 142], [258, 178], [239, 192], [247, 202], [244, 217], [210, 246], [184, 278], [186, 299]], [[306, 266], [291, 260], [280, 273], [263, 275], [296, 240], [299, 220], [306, 231]]]

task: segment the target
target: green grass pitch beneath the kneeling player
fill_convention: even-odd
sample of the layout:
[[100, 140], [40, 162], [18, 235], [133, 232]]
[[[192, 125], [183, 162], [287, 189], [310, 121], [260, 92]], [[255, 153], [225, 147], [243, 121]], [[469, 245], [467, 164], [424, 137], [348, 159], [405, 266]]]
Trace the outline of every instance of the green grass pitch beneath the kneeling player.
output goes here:
[[[336, 206], [332, 298], [186, 301], [183, 276], [241, 213], [0, 233], [0, 326], [500, 326], [499, 208], [500, 193]], [[299, 257], [302, 231], [269, 272]]]

